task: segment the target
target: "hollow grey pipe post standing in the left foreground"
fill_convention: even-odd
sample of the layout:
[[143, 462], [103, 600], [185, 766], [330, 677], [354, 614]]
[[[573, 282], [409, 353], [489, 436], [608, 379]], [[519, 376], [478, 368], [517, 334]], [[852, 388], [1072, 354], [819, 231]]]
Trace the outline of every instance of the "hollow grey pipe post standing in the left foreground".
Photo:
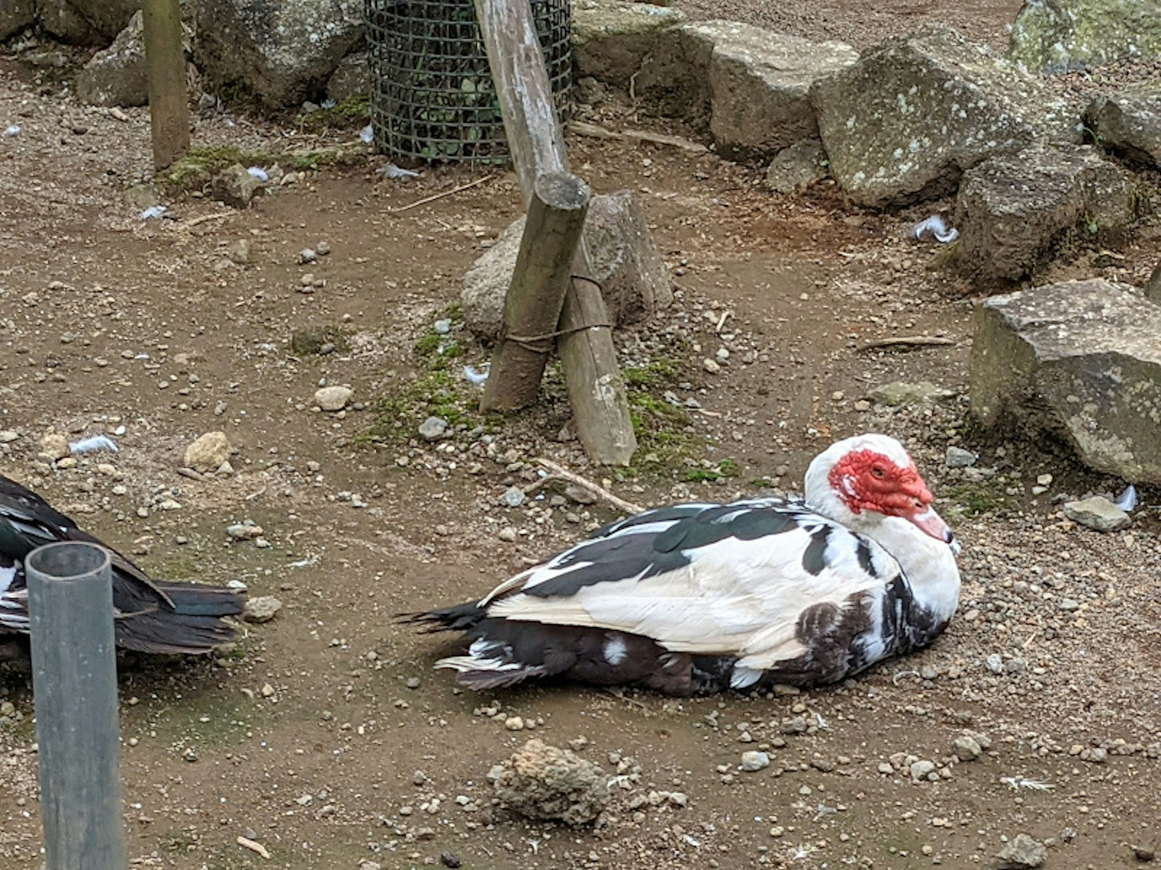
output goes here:
[[124, 870], [109, 553], [48, 544], [24, 572], [45, 870]]

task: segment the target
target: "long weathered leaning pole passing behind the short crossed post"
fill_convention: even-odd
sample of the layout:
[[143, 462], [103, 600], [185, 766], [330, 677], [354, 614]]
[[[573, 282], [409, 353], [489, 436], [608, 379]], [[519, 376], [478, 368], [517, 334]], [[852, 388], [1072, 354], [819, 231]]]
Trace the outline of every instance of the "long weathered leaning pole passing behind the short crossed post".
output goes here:
[[[553, 106], [532, 6], [528, 0], [475, 0], [475, 6], [499, 95], [509, 151], [525, 204], [531, 206], [539, 176], [569, 172], [564, 135]], [[572, 274], [582, 278], [592, 276], [583, 238]], [[616, 364], [613, 329], [605, 302], [594, 290], [589, 281], [571, 282], [561, 312], [558, 328], [564, 334], [557, 341], [557, 350], [564, 365], [577, 437], [585, 454], [603, 465], [623, 465], [633, 457], [637, 441], [625, 380]]]

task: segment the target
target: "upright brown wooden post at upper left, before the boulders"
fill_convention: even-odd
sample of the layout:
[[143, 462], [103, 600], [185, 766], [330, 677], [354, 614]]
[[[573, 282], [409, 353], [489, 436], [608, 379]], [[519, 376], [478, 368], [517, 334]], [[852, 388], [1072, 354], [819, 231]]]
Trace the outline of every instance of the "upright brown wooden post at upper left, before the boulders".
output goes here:
[[145, 29], [153, 168], [164, 169], [189, 151], [189, 97], [178, 0], [145, 0], [142, 24]]

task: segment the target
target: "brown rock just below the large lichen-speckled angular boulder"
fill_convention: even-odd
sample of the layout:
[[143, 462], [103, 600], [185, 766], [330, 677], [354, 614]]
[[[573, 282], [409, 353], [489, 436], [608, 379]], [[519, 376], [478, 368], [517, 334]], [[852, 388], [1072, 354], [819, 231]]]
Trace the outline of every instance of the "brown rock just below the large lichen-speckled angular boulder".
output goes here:
[[1091, 147], [1034, 145], [985, 160], [964, 173], [956, 204], [956, 258], [988, 278], [1018, 280], [1055, 242], [1080, 230], [1111, 244], [1133, 219], [1128, 175]]

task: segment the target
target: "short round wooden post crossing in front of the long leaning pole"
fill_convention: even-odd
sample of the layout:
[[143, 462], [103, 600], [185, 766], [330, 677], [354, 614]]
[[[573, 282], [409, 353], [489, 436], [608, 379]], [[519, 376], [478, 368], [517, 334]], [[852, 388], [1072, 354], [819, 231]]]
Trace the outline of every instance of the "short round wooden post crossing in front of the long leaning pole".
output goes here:
[[536, 400], [587, 212], [589, 186], [576, 175], [536, 180], [481, 411], [512, 411]]

